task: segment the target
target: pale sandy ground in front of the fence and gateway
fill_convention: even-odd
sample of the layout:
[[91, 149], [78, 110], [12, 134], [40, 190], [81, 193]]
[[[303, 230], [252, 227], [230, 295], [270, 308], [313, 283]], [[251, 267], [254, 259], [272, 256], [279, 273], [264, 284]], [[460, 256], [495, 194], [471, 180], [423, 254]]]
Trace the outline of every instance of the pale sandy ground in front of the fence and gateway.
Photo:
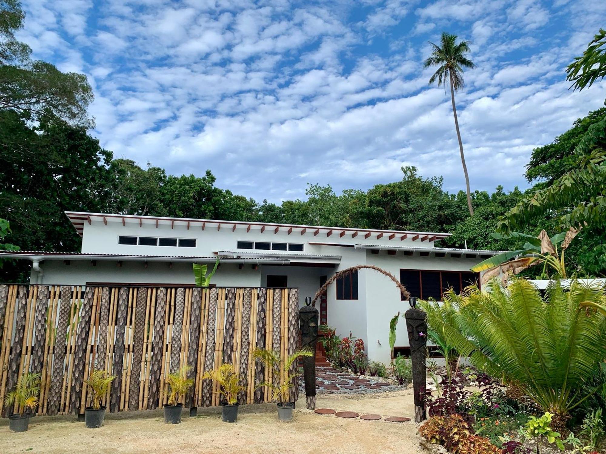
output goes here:
[[[299, 407], [305, 398], [299, 400]], [[411, 390], [381, 395], [318, 396], [317, 407], [413, 415]], [[25, 433], [0, 421], [0, 453], [421, 453], [415, 423], [362, 421], [320, 416], [298, 408], [290, 423], [278, 421], [274, 404], [240, 408], [238, 423], [221, 422], [221, 409], [198, 409], [182, 423], [164, 424], [162, 410], [108, 414], [99, 429], [85, 429], [75, 416], [37, 416]]]

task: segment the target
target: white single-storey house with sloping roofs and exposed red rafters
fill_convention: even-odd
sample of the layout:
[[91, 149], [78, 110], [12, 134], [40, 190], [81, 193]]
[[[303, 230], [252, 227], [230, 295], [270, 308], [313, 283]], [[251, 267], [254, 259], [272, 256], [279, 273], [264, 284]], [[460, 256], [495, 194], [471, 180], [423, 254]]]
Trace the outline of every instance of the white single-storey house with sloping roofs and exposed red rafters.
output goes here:
[[[449, 249], [436, 242], [449, 234], [284, 225], [225, 220], [65, 212], [79, 235], [79, 253], [0, 252], [32, 261], [31, 282], [98, 285], [143, 283], [192, 286], [192, 263], [221, 265], [216, 286], [296, 287], [313, 297], [336, 271], [376, 265], [399, 278], [419, 298], [441, 299], [478, 280], [476, 263], [498, 251]], [[336, 280], [321, 298], [321, 322], [338, 334], [364, 339], [370, 360], [389, 361], [389, 321], [409, 308], [389, 278], [362, 269]], [[404, 320], [396, 347], [408, 346]]]

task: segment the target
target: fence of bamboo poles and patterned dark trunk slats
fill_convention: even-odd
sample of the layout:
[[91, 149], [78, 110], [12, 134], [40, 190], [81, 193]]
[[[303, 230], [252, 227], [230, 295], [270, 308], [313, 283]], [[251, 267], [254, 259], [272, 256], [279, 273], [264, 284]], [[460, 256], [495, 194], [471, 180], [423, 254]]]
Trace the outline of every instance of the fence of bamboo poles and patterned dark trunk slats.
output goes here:
[[[167, 403], [166, 376], [188, 364], [188, 407], [221, 404], [208, 370], [231, 363], [241, 404], [267, 401], [278, 380], [253, 358], [257, 347], [296, 349], [298, 289], [0, 285], [0, 405], [24, 373], [40, 374], [38, 415], [84, 412], [95, 369], [116, 378], [102, 400], [112, 412]], [[291, 393], [296, 400], [296, 391]]]

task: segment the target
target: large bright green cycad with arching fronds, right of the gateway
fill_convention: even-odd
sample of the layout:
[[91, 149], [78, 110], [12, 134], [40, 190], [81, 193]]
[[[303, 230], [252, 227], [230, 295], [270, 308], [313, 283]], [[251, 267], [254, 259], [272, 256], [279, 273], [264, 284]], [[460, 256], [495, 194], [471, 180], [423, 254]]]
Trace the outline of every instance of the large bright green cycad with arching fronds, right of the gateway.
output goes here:
[[431, 329], [463, 357], [507, 383], [521, 386], [558, 428], [591, 390], [583, 385], [606, 357], [603, 288], [576, 279], [570, 288], [551, 281], [545, 297], [530, 281], [513, 277], [507, 288], [493, 278], [479, 290], [445, 293], [444, 306], [423, 301]]

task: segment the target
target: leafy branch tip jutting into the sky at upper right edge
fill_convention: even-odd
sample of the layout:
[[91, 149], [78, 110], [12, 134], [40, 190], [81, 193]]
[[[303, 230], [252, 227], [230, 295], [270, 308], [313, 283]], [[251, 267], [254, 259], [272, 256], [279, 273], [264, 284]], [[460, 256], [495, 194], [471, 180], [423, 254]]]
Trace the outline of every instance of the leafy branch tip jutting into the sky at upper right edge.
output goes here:
[[591, 87], [593, 82], [606, 76], [606, 30], [600, 28], [597, 35], [588, 44], [581, 57], [574, 58], [566, 68], [566, 80], [574, 82], [574, 90]]

